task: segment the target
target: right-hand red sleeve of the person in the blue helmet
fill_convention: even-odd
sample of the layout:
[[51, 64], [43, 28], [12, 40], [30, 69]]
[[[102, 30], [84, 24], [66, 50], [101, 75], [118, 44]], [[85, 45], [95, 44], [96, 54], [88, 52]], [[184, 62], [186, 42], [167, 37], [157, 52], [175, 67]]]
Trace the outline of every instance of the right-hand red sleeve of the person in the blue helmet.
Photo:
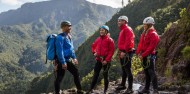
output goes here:
[[111, 61], [112, 56], [114, 54], [114, 50], [115, 50], [114, 41], [110, 39], [108, 55], [105, 58], [107, 62]]

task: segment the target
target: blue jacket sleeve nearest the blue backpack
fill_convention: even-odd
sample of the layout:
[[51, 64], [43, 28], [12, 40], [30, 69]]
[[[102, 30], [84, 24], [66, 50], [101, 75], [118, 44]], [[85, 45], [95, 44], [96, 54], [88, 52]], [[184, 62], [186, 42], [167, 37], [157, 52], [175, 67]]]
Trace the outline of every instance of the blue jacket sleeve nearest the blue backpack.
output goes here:
[[64, 52], [63, 52], [63, 38], [62, 36], [57, 36], [56, 37], [56, 55], [58, 58], [58, 61], [61, 62], [61, 64], [66, 64], [65, 58], [64, 58]]

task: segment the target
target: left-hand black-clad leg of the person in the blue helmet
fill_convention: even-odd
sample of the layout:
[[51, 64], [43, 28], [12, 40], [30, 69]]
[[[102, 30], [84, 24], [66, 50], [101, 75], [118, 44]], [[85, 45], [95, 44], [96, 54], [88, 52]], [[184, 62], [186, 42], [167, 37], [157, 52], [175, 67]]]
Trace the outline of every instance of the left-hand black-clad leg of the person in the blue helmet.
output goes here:
[[90, 90], [92, 90], [95, 87], [95, 85], [96, 85], [96, 83], [98, 81], [98, 77], [99, 77], [99, 73], [101, 71], [101, 68], [102, 68], [102, 63], [97, 61], [96, 65], [94, 67], [94, 75], [93, 75]]

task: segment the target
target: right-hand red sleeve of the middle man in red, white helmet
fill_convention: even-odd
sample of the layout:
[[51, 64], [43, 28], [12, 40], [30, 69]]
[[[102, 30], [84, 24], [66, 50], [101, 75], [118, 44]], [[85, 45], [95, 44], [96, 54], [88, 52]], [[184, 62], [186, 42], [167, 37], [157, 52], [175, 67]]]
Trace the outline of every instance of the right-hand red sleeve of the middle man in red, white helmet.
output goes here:
[[129, 30], [129, 29], [126, 29], [126, 31], [125, 31], [125, 35], [126, 35], [126, 37], [125, 37], [125, 51], [126, 52], [128, 52], [129, 50], [131, 50], [134, 46], [134, 34], [133, 34], [133, 32], [131, 31], [131, 30]]

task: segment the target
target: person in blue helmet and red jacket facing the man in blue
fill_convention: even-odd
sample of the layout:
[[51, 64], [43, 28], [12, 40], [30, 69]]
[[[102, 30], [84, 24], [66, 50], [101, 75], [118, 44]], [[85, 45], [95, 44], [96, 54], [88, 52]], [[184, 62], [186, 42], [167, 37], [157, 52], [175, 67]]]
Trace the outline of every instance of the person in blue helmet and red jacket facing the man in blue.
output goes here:
[[103, 68], [103, 76], [104, 76], [104, 93], [107, 92], [109, 80], [108, 80], [108, 71], [110, 68], [110, 62], [112, 56], [114, 54], [114, 41], [108, 35], [109, 27], [103, 25], [100, 27], [100, 36], [95, 40], [92, 44], [92, 53], [96, 57], [97, 63], [94, 67], [94, 75], [91, 83], [90, 90], [88, 93], [92, 93], [93, 88], [95, 87], [99, 73]]

